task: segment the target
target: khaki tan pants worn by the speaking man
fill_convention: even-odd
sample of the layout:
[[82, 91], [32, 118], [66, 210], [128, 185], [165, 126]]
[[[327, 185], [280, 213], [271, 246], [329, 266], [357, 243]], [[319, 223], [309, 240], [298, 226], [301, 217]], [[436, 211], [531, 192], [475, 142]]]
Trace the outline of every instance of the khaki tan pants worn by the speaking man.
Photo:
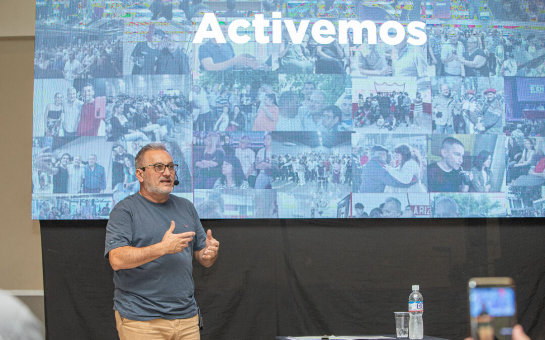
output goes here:
[[198, 314], [187, 319], [135, 321], [123, 318], [116, 311], [116, 324], [120, 340], [201, 339]]

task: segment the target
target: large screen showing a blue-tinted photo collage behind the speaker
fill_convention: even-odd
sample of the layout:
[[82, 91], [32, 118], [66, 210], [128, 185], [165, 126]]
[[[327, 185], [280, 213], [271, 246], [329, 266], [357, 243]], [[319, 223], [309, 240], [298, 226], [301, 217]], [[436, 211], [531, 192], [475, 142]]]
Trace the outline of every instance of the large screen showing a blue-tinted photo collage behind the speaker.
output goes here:
[[[32, 218], [107, 219], [150, 142], [204, 219], [545, 216], [545, 7], [447, 3], [37, 1]], [[226, 42], [193, 43], [206, 13]], [[311, 29], [347, 20], [427, 42]]]

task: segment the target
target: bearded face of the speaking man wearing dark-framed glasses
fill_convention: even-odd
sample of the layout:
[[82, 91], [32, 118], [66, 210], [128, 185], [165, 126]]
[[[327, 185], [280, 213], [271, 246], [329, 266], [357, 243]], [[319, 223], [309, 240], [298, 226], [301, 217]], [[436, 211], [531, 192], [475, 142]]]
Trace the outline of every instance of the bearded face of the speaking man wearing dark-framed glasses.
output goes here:
[[143, 180], [141, 180], [141, 183], [144, 190], [154, 194], [168, 195], [174, 188], [175, 172], [171, 172], [166, 168], [161, 174], [160, 172], [155, 172], [153, 166], [147, 166], [158, 163], [165, 165], [172, 164], [172, 157], [164, 150], [150, 150], [144, 153], [144, 157], [142, 158], [142, 166], [146, 166], [146, 170], [139, 169], [137, 171], [142, 173]]

